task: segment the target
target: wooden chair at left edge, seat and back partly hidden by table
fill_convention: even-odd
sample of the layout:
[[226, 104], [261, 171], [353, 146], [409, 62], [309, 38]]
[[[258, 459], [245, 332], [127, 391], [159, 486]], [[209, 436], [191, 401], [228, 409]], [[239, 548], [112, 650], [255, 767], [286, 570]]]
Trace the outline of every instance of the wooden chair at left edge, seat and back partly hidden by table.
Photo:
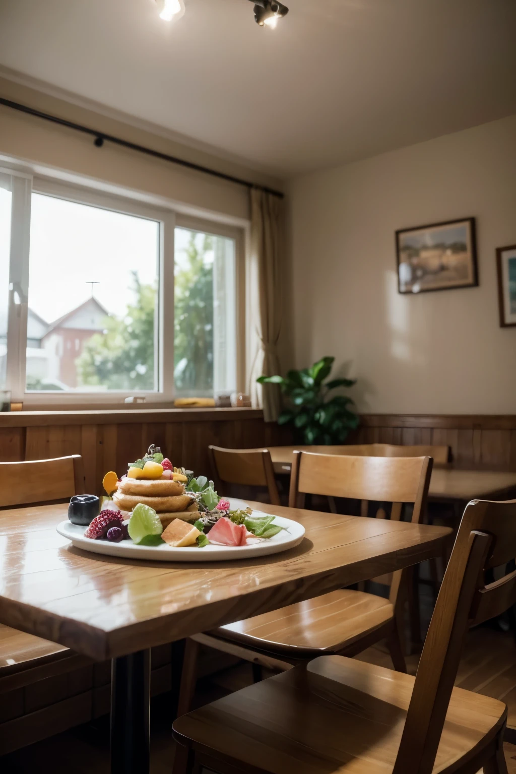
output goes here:
[[[55, 460], [0, 463], [0, 507], [56, 502], [84, 494], [78, 454]], [[91, 663], [68, 648], [0, 624], [0, 694]]]

